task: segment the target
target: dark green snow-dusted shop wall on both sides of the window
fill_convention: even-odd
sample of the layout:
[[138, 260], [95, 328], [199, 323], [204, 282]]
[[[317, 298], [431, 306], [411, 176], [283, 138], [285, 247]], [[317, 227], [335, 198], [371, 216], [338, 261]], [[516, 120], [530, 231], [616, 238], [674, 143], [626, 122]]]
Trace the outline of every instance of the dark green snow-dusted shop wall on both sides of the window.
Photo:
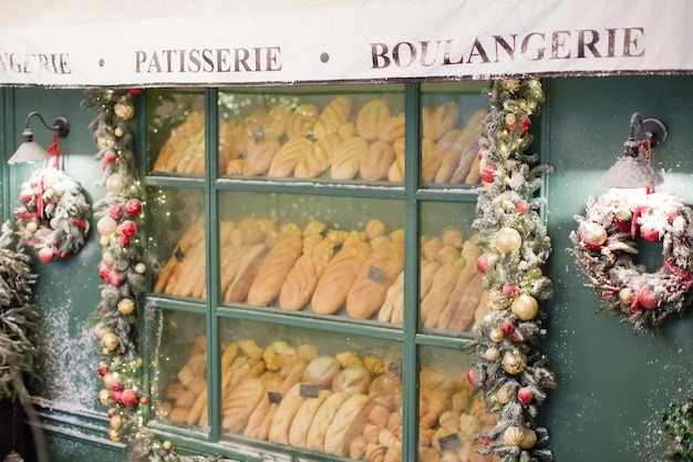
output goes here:
[[[549, 315], [545, 350], [558, 388], [546, 402], [542, 423], [557, 462], [660, 461], [664, 450], [661, 413], [670, 401], [693, 394], [693, 317], [671, 319], [653, 337], [634, 335], [631, 326], [597, 312], [599, 296], [583, 286], [581, 270], [567, 251], [571, 247], [568, 236], [576, 228], [573, 215], [585, 213], [588, 196], [607, 191], [599, 177], [620, 156], [633, 112], [660, 119], [669, 129], [669, 140], [652, 154], [653, 165], [665, 179], [658, 191], [693, 204], [693, 78], [550, 79], [545, 88], [548, 99], [535, 127], [541, 134], [536, 147], [555, 168], [545, 187], [554, 244], [546, 270], [556, 286], [555, 298], [545, 307]], [[30, 111], [40, 110], [49, 122], [64, 115], [72, 125], [70, 136], [61, 140], [68, 156], [65, 170], [92, 203], [101, 198], [104, 191], [94, 184], [101, 178], [93, 160], [96, 147], [87, 130], [95, 114], [81, 110], [83, 92], [4, 89], [1, 95], [2, 160], [19, 144]], [[34, 124], [37, 141], [48, 146], [50, 133]], [[0, 165], [4, 220], [12, 216], [19, 186], [30, 168]], [[100, 299], [99, 260], [92, 219], [89, 243], [79, 255], [38, 268], [42, 360], [31, 388], [40, 398], [53, 462], [117, 461], [125, 454], [123, 445], [105, 437], [105, 410], [96, 402], [101, 389], [97, 346], [85, 327]]]

